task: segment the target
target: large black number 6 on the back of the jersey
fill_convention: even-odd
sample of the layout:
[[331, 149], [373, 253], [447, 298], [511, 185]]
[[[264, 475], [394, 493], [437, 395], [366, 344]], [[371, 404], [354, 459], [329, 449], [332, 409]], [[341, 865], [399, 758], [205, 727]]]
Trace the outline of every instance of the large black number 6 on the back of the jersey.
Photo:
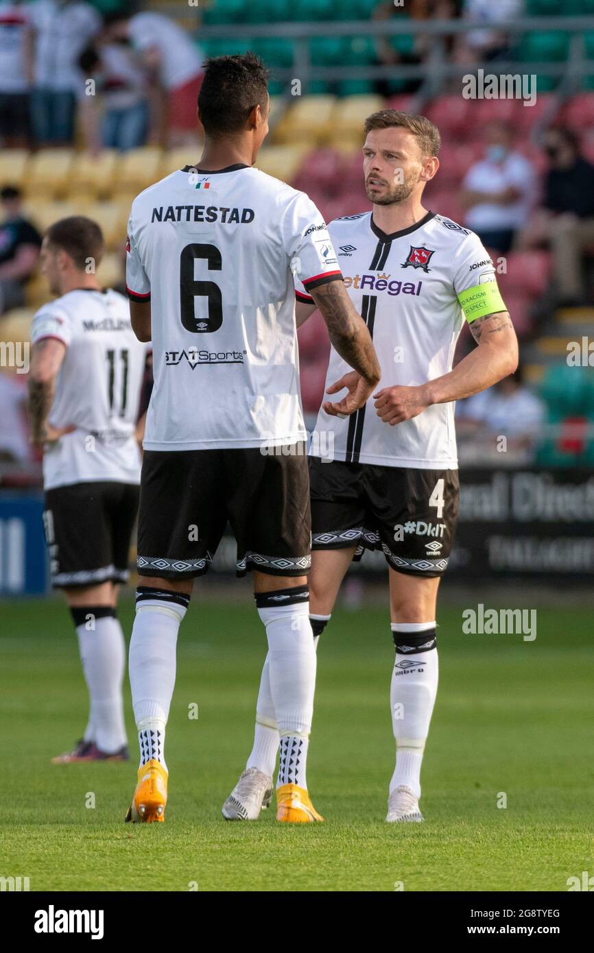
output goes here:
[[[221, 256], [215, 245], [186, 245], [179, 262], [179, 307], [181, 323], [186, 331], [195, 335], [218, 331], [223, 323], [223, 299], [220, 288], [214, 281], [196, 281], [194, 263], [196, 258], [206, 258], [209, 271], [220, 272]], [[208, 299], [208, 317], [196, 317], [195, 299]]]

